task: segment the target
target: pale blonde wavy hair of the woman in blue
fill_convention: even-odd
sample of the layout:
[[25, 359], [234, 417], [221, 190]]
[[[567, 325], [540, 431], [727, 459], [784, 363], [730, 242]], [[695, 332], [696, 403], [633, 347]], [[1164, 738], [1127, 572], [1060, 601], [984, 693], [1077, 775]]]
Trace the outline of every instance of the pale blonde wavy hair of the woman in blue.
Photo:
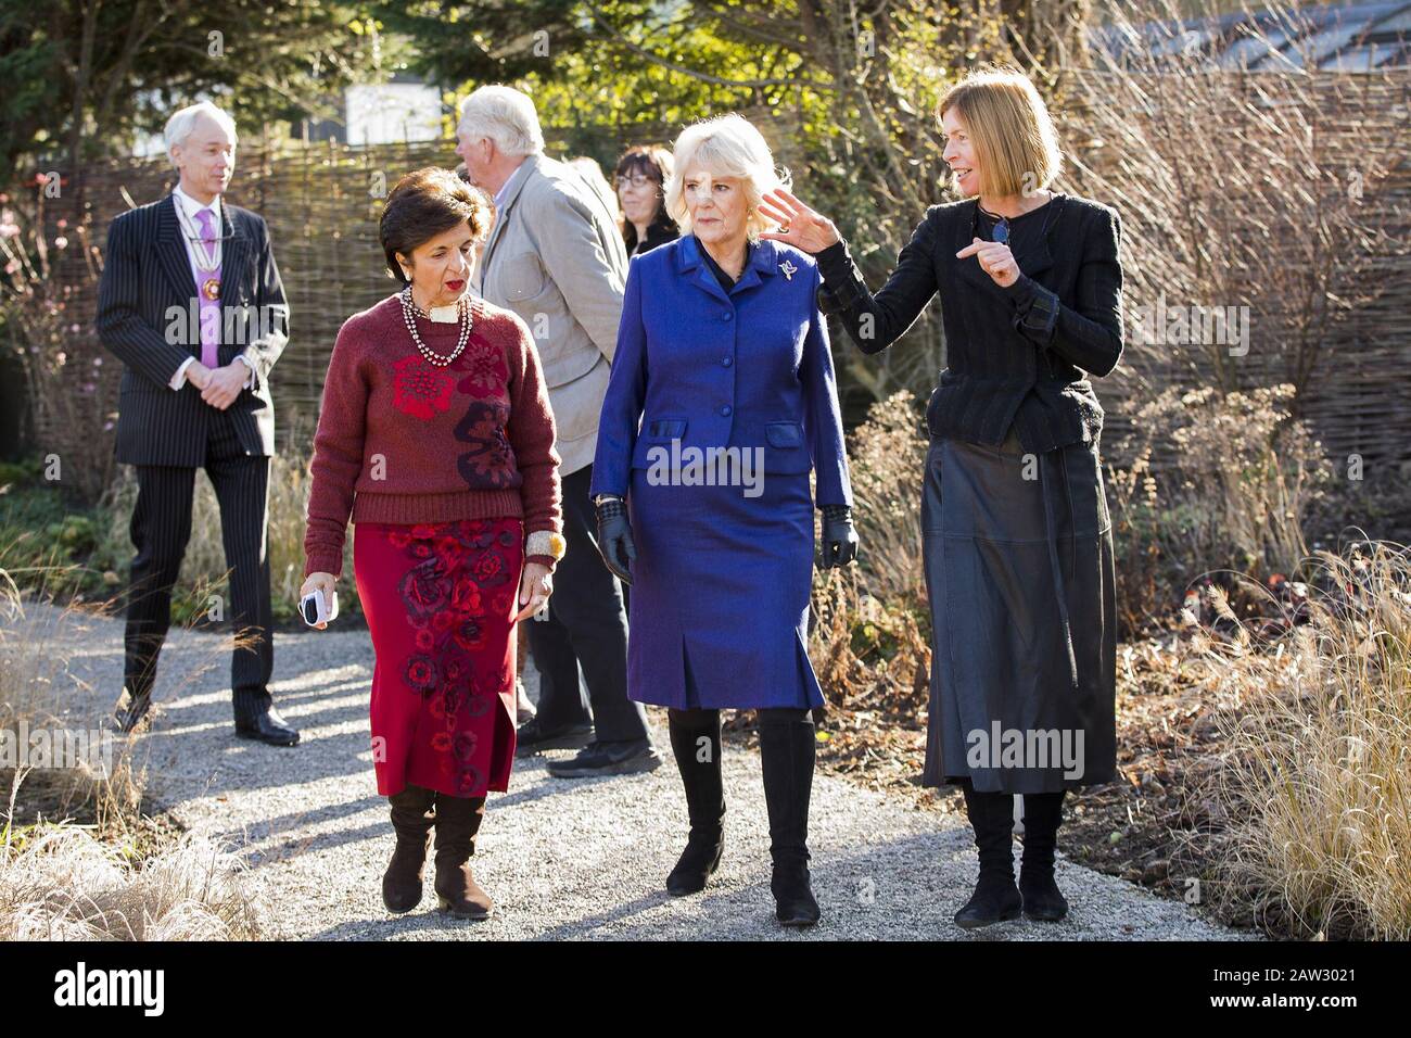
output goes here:
[[691, 215], [686, 208], [686, 175], [697, 168], [711, 177], [735, 177], [745, 189], [745, 234], [759, 240], [759, 232], [773, 220], [759, 210], [761, 199], [775, 188], [787, 189], [789, 171], [775, 168], [775, 155], [765, 137], [744, 116], [717, 116], [682, 130], [672, 151], [672, 178], [666, 182], [666, 213], [683, 234], [691, 233]]

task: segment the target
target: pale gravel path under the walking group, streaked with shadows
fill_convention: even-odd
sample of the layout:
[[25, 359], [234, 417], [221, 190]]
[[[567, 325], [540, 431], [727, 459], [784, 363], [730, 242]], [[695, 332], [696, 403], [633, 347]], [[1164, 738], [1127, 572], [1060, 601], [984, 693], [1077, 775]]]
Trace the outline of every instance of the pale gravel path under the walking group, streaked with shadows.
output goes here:
[[[30, 606], [31, 616], [37, 612], [44, 607]], [[71, 716], [107, 713], [121, 688], [121, 623], [69, 624], [62, 636], [73, 645], [69, 669], [92, 685], [75, 693]], [[293, 748], [234, 737], [229, 660], [220, 636], [172, 631], [152, 730], [137, 756], [150, 764], [148, 789], [158, 808], [227, 839], [254, 866], [274, 907], [271, 938], [1250, 939], [1062, 859], [1058, 881], [1072, 904], [1068, 919], [968, 933], [951, 915], [969, 895], [976, 870], [969, 828], [823, 774], [814, 781], [809, 839], [823, 922], [811, 932], [783, 931], [769, 894], [759, 757], [729, 746], [725, 859], [704, 894], [669, 898], [663, 883], [684, 842], [686, 805], [665, 712], [656, 708], [665, 763], [655, 772], [556, 780], [543, 758], [521, 758], [509, 792], [491, 794], [473, 864], [498, 902], [492, 919], [467, 924], [436, 912], [429, 880], [419, 909], [391, 917], [380, 893], [392, 829], [368, 748], [367, 633], [277, 634], [271, 691], [302, 730]], [[536, 678], [531, 672], [526, 679], [535, 696]], [[1016, 859], [1017, 852], [1016, 843]]]

